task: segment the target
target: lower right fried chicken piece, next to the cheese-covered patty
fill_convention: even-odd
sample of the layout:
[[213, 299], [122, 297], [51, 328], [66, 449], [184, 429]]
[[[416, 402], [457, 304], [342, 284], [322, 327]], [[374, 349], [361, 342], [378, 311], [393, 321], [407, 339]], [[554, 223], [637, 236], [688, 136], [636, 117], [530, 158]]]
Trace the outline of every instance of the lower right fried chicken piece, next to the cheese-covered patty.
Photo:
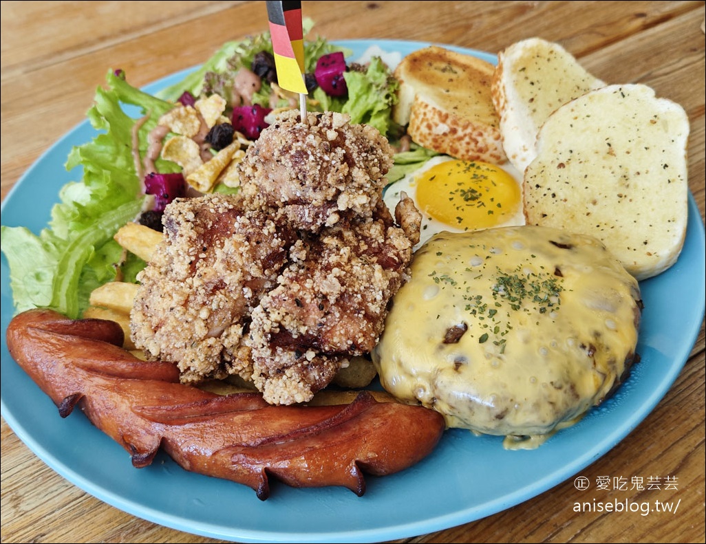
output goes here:
[[378, 206], [366, 222], [342, 221], [290, 251], [278, 285], [253, 310], [246, 344], [265, 399], [311, 399], [352, 356], [368, 353], [405, 279], [412, 243]]

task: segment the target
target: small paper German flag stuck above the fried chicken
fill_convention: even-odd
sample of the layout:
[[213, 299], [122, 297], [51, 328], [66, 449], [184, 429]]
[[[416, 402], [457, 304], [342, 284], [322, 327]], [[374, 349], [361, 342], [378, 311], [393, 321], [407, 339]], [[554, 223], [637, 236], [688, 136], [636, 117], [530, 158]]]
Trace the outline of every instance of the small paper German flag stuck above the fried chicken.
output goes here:
[[277, 84], [283, 89], [306, 95], [301, 1], [268, 0], [267, 14], [275, 53]]

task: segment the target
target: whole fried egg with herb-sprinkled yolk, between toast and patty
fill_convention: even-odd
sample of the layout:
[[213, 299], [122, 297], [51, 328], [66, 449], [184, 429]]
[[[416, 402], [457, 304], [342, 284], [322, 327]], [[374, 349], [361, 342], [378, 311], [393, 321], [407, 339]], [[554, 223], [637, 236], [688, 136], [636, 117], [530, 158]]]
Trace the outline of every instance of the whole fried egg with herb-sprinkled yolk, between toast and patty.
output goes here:
[[438, 155], [385, 189], [383, 199], [393, 212], [402, 191], [422, 214], [417, 247], [441, 231], [525, 224], [522, 178], [509, 163], [499, 167]]

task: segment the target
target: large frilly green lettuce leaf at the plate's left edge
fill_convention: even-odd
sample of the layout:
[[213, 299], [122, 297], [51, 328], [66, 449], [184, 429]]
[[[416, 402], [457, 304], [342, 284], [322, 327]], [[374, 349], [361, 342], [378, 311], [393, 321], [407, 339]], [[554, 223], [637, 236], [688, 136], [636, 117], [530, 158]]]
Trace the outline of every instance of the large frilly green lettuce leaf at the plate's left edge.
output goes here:
[[[1, 228], [0, 246], [10, 268], [16, 312], [53, 308], [78, 318], [88, 307], [90, 291], [119, 273], [115, 264], [122, 251], [112, 238], [138, 216], [145, 198], [131, 143], [136, 119], [126, 109], [137, 107], [147, 116], [138, 131], [144, 153], [148, 133], [173, 104], [132, 87], [113, 71], [106, 79], [107, 88], [96, 90], [88, 111], [99, 133], [89, 143], [73, 147], [66, 162], [67, 170], [83, 167], [83, 179], [61, 189], [49, 226], [39, 236], [24, 227]], [[158, 161], [157, 169], [169, 172], [179, 167]], [[134, 281], [144, 262], [131, 259], [126, 264], [121, 279]]]

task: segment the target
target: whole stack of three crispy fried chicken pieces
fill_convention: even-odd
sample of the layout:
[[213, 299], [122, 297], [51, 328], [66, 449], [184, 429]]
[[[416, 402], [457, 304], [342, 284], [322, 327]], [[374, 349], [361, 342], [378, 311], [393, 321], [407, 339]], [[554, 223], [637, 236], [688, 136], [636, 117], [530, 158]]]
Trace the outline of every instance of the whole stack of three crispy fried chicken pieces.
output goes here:
[[286, 114], [239, 165], [236, 197], [177, 199], [138, 278], [132, 336], [182, 382], [238, 374], [271, 404], [308, 401], [371, 351], [421, 215], [382, 200], [393, 150], [342, 114]]

